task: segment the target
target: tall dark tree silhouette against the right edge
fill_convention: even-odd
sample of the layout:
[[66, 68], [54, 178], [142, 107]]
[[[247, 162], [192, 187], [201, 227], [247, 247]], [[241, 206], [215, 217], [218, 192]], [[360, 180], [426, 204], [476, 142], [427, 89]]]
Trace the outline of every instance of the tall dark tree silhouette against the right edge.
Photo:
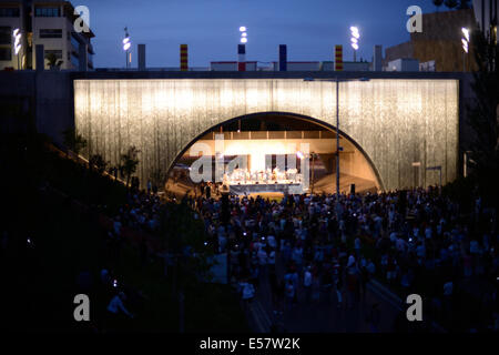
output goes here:
[[475, 61], [471, 88], [476, 100], [467, 108], [469, 124], [475, 131], [470, 162], [479, 189], [486, 199], [498, 203], [499, 180], [499, 47], [491, 38], [486, 38], [478, 28], [471, 31]]

